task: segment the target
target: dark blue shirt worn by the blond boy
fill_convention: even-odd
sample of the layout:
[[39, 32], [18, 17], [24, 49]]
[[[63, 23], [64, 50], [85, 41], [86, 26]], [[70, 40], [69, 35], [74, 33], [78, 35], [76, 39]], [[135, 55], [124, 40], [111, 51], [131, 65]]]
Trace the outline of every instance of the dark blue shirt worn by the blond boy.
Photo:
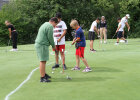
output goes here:
[[81, 27], [79, 27], [76, 30], [76, 36], [75, 37], [76, 37], [76, 39], [77, 38], [80, 39], [80, 41], [77, 42], [80, 47], [85, 47], [86, 46], [86, 40], [85, 40], [84, 32], [83, 32]]

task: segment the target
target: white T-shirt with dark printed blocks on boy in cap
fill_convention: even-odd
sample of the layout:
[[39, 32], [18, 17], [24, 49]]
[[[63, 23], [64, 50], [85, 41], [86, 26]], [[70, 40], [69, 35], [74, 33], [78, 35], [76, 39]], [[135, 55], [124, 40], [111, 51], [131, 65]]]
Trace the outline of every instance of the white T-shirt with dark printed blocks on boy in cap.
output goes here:
[[55, 45], [64, 45], [65, 44], [65, 36], [61, 39], [60, 42], [57, 43], [57, 40], [61, 37], [64, 30], [67, 29], [67, 26], [64, 21], [60, 21], [53, 30], [53, 37]]

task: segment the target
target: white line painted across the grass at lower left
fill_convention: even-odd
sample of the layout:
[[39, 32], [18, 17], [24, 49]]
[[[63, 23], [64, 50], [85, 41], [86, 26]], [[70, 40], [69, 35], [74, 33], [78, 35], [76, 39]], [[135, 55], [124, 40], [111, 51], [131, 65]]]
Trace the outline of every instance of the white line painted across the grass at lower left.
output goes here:
[[[51, 62], [51, 63], [49, 63], [49, 64], [47, 64], [47, 65], [51, 65], [51, 64], [53, 64], [53, 63], [54, 63], [54, 62]], [[30, 72], [30, 74], [28, 75], [28, 77], [27, 77], [15, 90], [13, 90], [12, 92], [10, 92], [10, 93], [5, 97], [5, 100], [9, 100], [9, 97], [10, 97], [11, 95], [13, 95], [15, 92], [17, 92], [26, 82], [28, 82], [28, 81], [31, 79], [31, 76], [33, 75], [33, 73], [34, 73], [36, 70], [38, 70], [38, 69], [39, 69], [39, 67], [33, 69], [33, 70]]]

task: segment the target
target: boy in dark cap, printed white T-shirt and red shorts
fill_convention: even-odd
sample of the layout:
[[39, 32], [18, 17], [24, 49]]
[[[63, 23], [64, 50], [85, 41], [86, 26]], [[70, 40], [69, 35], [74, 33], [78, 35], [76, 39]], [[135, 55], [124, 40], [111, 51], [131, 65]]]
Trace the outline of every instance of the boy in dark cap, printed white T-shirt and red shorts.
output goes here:
[[65, 35], [67, 33], [67, 26], [64, 21], [61, 20], [61, 13], [57, 13], [56, 17], [58, 18], [59, 23], [54, 28], [54, 42], [56, 45], [56, 52], [55, 52], [55, 60], [56, 64], [52, 67], [53, 69], [59, 67], [59, 52], [62, 58], [63, 69], [66, 70], [65, 65]]

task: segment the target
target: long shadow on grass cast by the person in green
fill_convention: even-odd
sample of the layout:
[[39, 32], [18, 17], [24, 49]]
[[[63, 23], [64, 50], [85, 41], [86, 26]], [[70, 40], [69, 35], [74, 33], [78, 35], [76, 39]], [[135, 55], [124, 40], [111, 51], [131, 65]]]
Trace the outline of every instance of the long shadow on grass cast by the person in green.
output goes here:
[[53, 78], [53, 82], [91, 82], [91, 81], [106, 81], [108, 79], [114, 79], [112, 77], [73, 77], [71, 80], [67, 78]]

